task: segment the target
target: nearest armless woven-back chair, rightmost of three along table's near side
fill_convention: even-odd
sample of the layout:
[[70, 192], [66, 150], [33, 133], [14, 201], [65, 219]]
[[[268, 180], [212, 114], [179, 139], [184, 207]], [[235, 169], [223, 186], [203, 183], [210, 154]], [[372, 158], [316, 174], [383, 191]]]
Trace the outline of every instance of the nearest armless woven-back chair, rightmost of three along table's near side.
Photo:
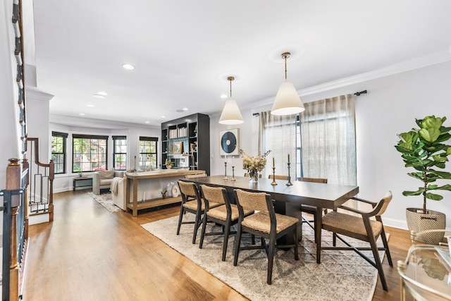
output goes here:
[[[268, 256], [268, 274], [266, 283], [272, 283], [274, 252], [276, 240], [284, 235], [292, 234], [294, 237], [293, 245], [277, 245], [280, 248], [295, 249], [295, 260], [299, 260], [297, 247], [297, 223], [299, 219], [292, 216], [276, 214], [271, 196], [265, 192], [247, 192], [245, 190], [235, 189], [235, 199], [238, 207], [238, 228], [235, 236], [235, 254], [233, 265], [237, 266], [238, 254], [241, 250], [255, 250], [257, 248], [265, 249]], [[253, 211], [254, 214], [245, 216], [245, 210]], [[241, 247], [242, 233], [250, 233], [261, 238], [261, 246], [250, 245]], [[266, 241], [269, 240], [268, 245]]]

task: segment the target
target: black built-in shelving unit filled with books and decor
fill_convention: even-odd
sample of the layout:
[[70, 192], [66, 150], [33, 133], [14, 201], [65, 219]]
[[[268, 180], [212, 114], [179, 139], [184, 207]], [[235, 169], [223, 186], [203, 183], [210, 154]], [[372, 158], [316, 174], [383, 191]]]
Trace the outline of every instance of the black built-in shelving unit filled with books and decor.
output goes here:
[[161, 163], [173, 168], [190, 168], [210, 174], [210, 118], [196, 113], [161, 123]]

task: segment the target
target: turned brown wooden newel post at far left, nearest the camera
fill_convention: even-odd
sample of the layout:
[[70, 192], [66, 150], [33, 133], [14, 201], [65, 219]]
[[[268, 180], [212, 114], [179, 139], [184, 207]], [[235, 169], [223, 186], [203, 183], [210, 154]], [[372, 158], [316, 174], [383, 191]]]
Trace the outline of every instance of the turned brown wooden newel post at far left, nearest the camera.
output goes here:
[[[20, 190], [19, 159], [9, 159], [6, 167], [6, 190]], [[19, 299], [19, 268], [17, 261], [17, 212], [20, 206], [20, 195], [11, 195], [11, 243], [9, 248], [9, 297]], [[6, 246], [4, 246], [6, 247]]]

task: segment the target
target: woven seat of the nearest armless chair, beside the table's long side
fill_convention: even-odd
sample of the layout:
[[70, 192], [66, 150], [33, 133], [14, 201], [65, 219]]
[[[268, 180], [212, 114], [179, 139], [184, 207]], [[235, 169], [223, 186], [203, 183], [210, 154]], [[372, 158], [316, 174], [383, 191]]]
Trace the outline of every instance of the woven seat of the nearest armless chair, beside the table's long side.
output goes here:
[[[276, 233], [280, 233], [298, 221], [299, 219], [296, 219], [295, 217], [276, 213]], [[271, 220], [269, 219], [269, 214], [267, 212], [260, 211], [249, 215], [242, 220], [241, 224], [242, 226], [252, 228], [263, 233], [271, 232]]]

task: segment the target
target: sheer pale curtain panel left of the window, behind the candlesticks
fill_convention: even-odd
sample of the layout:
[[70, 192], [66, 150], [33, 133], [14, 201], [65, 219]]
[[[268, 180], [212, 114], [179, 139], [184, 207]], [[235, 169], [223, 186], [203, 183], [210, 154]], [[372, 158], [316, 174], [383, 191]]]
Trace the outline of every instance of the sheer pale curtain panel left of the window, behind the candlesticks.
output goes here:
[[271, 111], [260, 113], [259, 152], [263, 154], [271, 149], [263, 171], [266, 178], [273, 173], [273, 158], [276, 175], [288, 176], [287, 163], [290, 154], [290, 176], [296, 179], [296, 118], [296, 115], [272, 115]]

